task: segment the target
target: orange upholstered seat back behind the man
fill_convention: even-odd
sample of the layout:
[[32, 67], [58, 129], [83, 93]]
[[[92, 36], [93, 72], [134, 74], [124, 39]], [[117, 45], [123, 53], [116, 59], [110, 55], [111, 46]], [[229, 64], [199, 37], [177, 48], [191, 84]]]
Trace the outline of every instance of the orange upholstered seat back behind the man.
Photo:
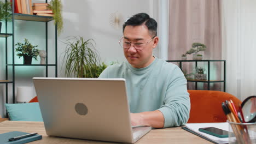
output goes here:
[[[222, 110], [222, 102], [232, 100], [238, 109], [241, 101], [234, 95], [220, 91], [188, 90], [190, 94], [190, 116], [188, 123], [214, 123], [226, 122], [226, 116]], [[30, 103], [38, 102], [37, 97]]]

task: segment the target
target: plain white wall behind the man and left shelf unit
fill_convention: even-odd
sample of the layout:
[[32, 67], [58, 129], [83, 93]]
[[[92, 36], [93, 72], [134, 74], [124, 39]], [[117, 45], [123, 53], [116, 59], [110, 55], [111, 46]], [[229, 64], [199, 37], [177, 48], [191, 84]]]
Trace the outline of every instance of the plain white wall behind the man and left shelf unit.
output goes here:
[[[1, 0], [2, 1], [2, 0]], [[45, 1], [34, 1], [34, 3]], [[85, 39], [93, 38], [96, 41], [96, 49], [100, 53], [101, 61], [110, 63], [112, 61], [125, 61], [123, 50], [120, 48], [118, 41], [123, 35], [121, 29], [115, 30], [109, 25], [109, 16], [111, 13], [118, 11], [123, 15], [124, 20], [136, 13], [148, 13], [156, 21], [158, 21], [158, 0], [62, 0], [63, 5], [63, 32], [59, 35], [58, 45], [58, 76], [65, 77], [63, 69], [63, 51], [66, 45], [61, 41], [65, 41], [68, 36], [82, 36]], [[38, 49], [45, 49], [45, 29], [44, 23], [15, 21], [15, 44], [27, 38], [32, 44], [39, 45]], [[10, 29], [9, 29], [10, 31]], [[54, 47], [54, 27], [53, 22], [48, 24], [48, 50]], [[11, 38], [8, 38], [8, 47], [11, 47]], [[0, 39], [0, 79], [5, 79], [5, 50], [4, 39]], [[158, 48], [154, 50], [154, 55], [158, 56]], [[49, 63], [54, 62], [54, 56], [48, 52]], [[9, 62], [11, 62], [11, 51], [9, 51]], [[38, 57], [38, 59], [40, 59]], [[22, 63], [22, 58], [15, 57], [15, 63]], [[32, 61], [32, 63], [39, 63]], [[11, 67], [10, 67], [11, 68]], [[43, 67], [15, 67], [16, 79], [15, 87], [29, 86], [33, 87], [32, 77], [44, 76], [45, 69]], [[9, 70], [11, 75], [11, 69]], [[49, 76], [54, 76], [54, 69], [49, 70]], [[10, 77], [11, 78], [11, 77]], [[12, 88], [9, 85], [9, 101], [12, 101]], [[4, 97], [5, 85], [0, 84], [0, 115], [4, 115]]]

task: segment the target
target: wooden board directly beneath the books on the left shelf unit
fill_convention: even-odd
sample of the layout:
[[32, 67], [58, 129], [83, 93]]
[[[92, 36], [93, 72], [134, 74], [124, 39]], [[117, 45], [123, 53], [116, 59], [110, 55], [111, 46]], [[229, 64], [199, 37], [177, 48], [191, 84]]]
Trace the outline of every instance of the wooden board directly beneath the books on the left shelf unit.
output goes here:
[[40, 16], [40, 15], [28, 15], [28, 14], [14, 14], [15, 20], [24, 20], [24, 21], [40, 21], [40, 22], [48, 22], [52, 21], [53, 17], [51, 16]]

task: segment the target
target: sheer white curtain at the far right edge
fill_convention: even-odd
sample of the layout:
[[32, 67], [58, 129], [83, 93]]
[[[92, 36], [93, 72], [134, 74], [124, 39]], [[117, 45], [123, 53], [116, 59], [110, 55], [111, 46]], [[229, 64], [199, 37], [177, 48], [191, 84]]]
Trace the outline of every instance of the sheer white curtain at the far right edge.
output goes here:
[[256, 95], [256, 1], [222, 1], [223, 58], [228, 93]]

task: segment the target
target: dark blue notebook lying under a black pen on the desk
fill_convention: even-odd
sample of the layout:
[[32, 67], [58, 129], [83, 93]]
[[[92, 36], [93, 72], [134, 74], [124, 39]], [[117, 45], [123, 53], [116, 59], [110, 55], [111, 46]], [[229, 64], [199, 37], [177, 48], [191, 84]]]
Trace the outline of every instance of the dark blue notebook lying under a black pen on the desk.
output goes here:
[[11, 131], [9, 133], [3, 133], [0, 134], [0, 143], [1, 144], [22, 144], [22, 143], [28, 143], [31, 141], [36, 141], [42, 139], [42, 135], [34, 135], [30, 137], [26, 137], [24, 139], [16, 140], [16, 141], [8, 141], [11, 137], [16, 137], [16, 136], [21, 136], [21, 135], [26, 135], [29, 133], [24, 133], [21, 131]]

